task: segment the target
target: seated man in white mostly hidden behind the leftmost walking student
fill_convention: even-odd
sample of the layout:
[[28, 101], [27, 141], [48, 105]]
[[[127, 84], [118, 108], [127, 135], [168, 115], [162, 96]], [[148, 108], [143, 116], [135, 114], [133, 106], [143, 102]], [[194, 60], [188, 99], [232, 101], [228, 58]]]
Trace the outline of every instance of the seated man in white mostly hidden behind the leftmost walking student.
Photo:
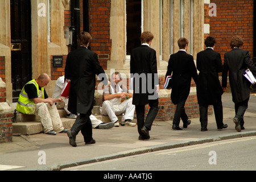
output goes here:
[[[57, 107], [61, 104], [64, 104], [64, 110], [67, 112], [67, 118], [71, 118], [71, 119], [76, 119], [76, 115], [72, 114], [71, 112], [68, 111], [68, 98], [64, 98], [60, 96], [61, 90], [64, 86], [64, 82], [65, 82], [65, 76], [61, 76], [59, 78], [57, 78], [56, 83], [55, 83], [55, 88], [53, 90], [53, 95], [52, 98], [63, 98], [64, 99], [64, 103], [56, 103]], [[61, 106], [60, 106], [61, 107]], [[114, 123], [106, 123], [106, 122], [102, 122], [100, 119], [97, 119], [94, 115], [90, 115], [90, 121], [92, 121], [92, 128], [93, 129], [111, 129], [112, 127], [114, 127]]]

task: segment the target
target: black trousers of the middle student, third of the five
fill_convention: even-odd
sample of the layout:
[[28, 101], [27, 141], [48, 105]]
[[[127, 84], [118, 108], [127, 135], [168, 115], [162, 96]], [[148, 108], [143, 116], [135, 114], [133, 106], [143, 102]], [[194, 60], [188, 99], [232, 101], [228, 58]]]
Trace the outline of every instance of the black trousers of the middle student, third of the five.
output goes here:
[[174, 121], [172, 122], [173, 124], [175, 125], [178, 125], [180, 124], [180, 118], [181, 120], [183, 121], [183, 123], [187, 123], [188, 121], [188, 116], [187, 114], [185, 113], [185, 102], [187, 100], [184, 100], [184, 101], [181, 101], [177, 104], [176, 106], [176, 111], [175, 111], [175, 114], [174, 114]]

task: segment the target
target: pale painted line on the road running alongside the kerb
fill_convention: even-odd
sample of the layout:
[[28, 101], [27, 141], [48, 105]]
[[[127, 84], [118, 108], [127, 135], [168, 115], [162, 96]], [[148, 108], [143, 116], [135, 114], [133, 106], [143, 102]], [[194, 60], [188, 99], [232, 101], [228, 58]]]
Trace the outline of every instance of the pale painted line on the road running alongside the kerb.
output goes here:
[[235, 143], [235, 142], [243, 142], [243, 141], [247, 141], [247, 140], [255, 140], [256, 137], [250, 137], [250, 138], [241, 138], [241, 139], [236, 139], [236, 140], [232, 140], [232, 141], [225, 141], [225, 142], [218, 142], [218, 143], [212, 143], [212, 144], [207, 144], [205, 146], [198, 146], [198, 147], [192, 147], [192, 148], [183, 148], [180, 150], [175, 150], [175, 151], [169, 151], [169, 152], [161, 152], [159, 154], [155, 154], [155, 155], [166, 155], [166, 154], [174, 154], [177, 152], [184, 152], [184, 151], [189, 151], [189, 150], [197, 150], [197, 149], [201, 149], [201, 148], [207, 148], [207, 147], [213, 147], [213, 146], [218, 146], [221, 144], [228, 144], [228, 143]]

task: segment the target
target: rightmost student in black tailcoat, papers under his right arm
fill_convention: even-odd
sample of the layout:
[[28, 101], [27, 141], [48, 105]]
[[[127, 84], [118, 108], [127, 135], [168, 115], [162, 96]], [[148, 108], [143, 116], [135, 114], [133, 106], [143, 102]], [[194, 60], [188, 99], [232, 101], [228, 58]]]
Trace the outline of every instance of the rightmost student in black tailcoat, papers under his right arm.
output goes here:
[[240, 132], [244, 130], [245, 121], [243, 115], [248, 107], [250, 98], [251, 83], [243, 76], [246, 69], [256, 75], [256, 67], [251, 62], [249, 51], [241, 49], [243, 45], [242, 38], [234, 36], [231, 39], [230, 47], [232, 51], [226, 52], [224, 55], [224, 68], [222, 72], [222, 88], [224, 92], [227, 86], [227, 77], [229, 72], [229, 84], [232, 91], [233, 102], [235, 105], [236, 116], [233, 122], [236, 124], [235, 129]]

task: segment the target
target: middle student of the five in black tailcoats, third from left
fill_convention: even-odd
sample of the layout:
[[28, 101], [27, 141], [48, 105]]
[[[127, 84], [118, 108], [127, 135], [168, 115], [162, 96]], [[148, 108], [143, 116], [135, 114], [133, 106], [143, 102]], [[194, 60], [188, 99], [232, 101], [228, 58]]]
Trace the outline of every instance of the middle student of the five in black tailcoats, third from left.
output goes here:
[[180, 50], [170, 56], [166, 77], [172, 75], [171, 100], [176, 106], [172, 129], [182, 130], [179, 127], [180, 118], [183, 121], [183, 127], [187, 128], [191, 121], [185, 113], [185, 102], [190, 93], [191, 77], [197, 82], [197, 69], [193, 56], [187, 53], [188, 40], [180, 38], [178, 40]]

